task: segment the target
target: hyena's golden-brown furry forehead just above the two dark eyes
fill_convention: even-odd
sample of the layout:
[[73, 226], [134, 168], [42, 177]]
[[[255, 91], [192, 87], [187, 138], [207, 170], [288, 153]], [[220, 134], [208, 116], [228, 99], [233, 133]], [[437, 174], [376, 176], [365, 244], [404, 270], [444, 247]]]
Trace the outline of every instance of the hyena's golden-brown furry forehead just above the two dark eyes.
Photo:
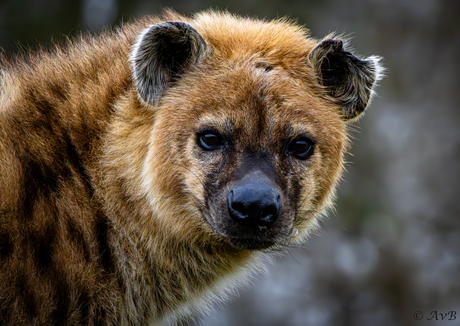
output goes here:
[[169, 108], [164, 113], [182, 121], [184, 131], [212, 127], [246, 139], [274, 134], [315, 136], [330, 128], [341, 129], [336, 108], [309, 83], [281, 67], [266, 71], [257, 62], [246, 62], [198, 78], [187, 76], [167, 96], [165, 107]]

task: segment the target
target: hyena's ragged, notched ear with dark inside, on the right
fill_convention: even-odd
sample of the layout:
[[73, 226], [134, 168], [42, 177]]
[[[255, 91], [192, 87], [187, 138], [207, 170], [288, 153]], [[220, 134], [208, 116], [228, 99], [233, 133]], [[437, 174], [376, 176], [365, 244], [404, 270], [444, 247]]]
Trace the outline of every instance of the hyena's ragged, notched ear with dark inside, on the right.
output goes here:
[[344, 50], [341, 40], [326, 39], [313, 49], [308, 59], [328, 97], [342, 107], [342, 117], [348, 120], [360, 116], [383, 77], [381, 58], [358, 58]]

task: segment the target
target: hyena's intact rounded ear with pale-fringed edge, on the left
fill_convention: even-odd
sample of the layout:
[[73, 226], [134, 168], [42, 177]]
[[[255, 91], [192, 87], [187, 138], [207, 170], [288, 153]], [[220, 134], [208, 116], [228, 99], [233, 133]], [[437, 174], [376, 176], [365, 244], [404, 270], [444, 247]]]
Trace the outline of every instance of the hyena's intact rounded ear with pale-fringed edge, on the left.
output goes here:
[[207, 54], [206, 42], [189, 24], [165, 22], [145, 29], [130, 58], [139, 95], [154, 105], [169, 84]]

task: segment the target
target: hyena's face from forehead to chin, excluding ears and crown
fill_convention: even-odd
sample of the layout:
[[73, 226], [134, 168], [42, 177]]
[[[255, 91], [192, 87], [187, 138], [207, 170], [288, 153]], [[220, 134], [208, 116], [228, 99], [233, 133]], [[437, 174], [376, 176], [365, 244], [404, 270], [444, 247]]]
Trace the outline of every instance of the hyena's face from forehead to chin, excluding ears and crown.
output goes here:
[[[184, 188], [200, 216], [232, 245], [285, 244], [314, 222], [323, 189], [338, 177], [343, 123], [321, 104], [305, 103], [308, 94], [281, 68], [266, 71], [249, 61], [216, 75], [189, 88], [180, 107], [158, 112], [183, 122], [174, 139], [181, 143]], [[225, 89], [213, 86], [223, 83]], [[217, 96], [189, 100], [203, 89]], [[328, 125], [320, 121], [325, 117]]]

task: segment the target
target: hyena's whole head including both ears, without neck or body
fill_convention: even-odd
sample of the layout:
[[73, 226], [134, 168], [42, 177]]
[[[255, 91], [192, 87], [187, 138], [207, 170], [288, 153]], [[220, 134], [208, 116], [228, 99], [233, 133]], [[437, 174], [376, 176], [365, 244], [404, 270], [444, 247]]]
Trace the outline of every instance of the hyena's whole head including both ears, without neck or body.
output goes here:
[[156, 217], [236, 249], [301, 242], [331, 204], [379, 58], [285, 21], [183, 20], [145, 29], [131, 55], [154, 115], [143, 188]]

